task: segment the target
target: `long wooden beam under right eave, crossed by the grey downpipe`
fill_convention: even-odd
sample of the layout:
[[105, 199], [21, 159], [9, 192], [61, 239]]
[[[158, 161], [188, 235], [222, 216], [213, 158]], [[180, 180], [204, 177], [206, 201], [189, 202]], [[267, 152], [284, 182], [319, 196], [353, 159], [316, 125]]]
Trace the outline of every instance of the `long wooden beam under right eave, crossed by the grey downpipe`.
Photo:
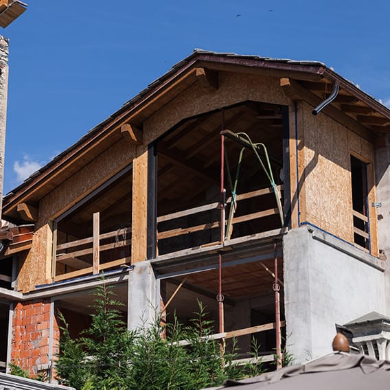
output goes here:
[[[280, 87], [282, 87], [286, 96], [291, 100], [304, 100], [313, 107], [323, 101], [319, 96], [308, 91], [308, 89], [302, 87], [301, 84], [290, 78], [281, 78]], [[341, 112], [338, 108], [332, 106], [332, 104], [325, 106], [321, 113], [328, 115], [332, 119], [336, 120], [336, 122], [339, 122], [361, 137], [372, 141], [373, 135], [370, 133], [369, 128], [363, 126], [356, 120], [352, 119], [352, 117], [349, 117], [345, 113]]]

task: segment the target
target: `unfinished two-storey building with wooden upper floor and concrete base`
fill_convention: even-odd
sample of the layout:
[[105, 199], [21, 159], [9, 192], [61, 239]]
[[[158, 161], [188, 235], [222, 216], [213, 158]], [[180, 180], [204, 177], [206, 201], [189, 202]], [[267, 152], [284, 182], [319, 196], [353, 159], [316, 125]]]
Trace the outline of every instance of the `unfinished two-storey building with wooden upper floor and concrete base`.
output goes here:
[[207, 306], [273, 360], [389, 314], [390, 111], [321, 62], [194, 53], [3, 199], [0, 360], [51, 370], [60, 310], [128, 328]]

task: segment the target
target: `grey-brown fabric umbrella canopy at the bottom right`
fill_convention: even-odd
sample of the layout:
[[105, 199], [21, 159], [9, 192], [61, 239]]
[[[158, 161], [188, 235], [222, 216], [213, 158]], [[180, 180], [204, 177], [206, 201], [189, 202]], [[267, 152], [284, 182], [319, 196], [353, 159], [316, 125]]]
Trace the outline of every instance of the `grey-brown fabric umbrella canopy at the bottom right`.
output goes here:
[[214, 389], [238, 390], [369, 390], [389, 389], [390, 362], [364, 355], [334, 352], [303, 365], [285, 367]]

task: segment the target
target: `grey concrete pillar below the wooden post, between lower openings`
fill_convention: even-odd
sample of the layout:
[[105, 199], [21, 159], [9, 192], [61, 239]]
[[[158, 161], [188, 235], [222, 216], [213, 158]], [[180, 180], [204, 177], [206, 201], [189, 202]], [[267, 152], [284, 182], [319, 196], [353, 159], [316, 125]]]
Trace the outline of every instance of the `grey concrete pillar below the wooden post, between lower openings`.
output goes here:
[[152, 265], [150, 261], [138, 262], [128, 277], [128, 330], [150, 325], [158, 310]]

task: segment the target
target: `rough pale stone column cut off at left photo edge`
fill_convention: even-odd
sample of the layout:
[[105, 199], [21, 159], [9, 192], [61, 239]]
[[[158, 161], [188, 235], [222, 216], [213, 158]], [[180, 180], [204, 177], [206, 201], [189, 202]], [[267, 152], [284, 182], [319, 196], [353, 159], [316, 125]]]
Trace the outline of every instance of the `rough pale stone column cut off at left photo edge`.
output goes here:
[[0, 220], [3, 207], [5, 124], [8, 98], [8, 38], [0, 36]]

